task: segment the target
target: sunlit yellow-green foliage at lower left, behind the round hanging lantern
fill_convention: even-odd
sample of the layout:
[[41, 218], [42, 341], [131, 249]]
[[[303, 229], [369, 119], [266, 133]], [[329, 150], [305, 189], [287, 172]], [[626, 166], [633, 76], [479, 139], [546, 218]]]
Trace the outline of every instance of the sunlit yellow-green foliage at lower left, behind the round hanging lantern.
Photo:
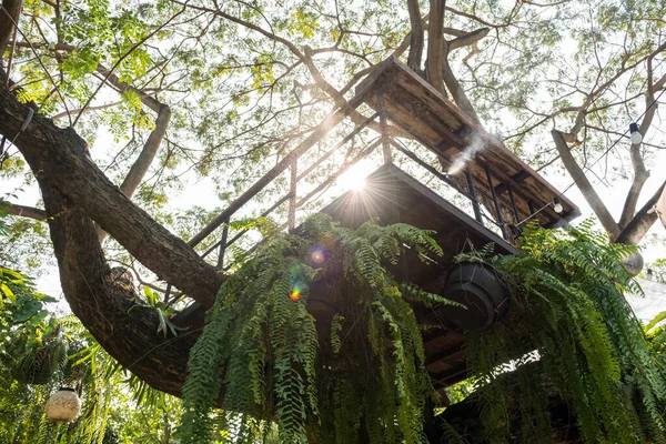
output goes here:
[[[56, 300], [30, 278], [0, 266], [0, 442], [144, 443], [172, 433], [180, 403], [128, 376], [75, 319], [51, 315]], [[82, 413], [54, 425], [44, 404], [63, 385], [77, 389]]]

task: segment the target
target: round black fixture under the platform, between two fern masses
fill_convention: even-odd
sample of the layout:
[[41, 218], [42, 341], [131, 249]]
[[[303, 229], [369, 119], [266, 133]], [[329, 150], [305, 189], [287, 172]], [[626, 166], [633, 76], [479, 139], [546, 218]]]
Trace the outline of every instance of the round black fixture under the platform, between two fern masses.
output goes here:
[[453, 324], [472, 332], [495, 325], [508, 311], [511, 299], [495, 269], [482, 262], [453, 265], [442, 295], [466, 306], [446, 306], [443, 314]]

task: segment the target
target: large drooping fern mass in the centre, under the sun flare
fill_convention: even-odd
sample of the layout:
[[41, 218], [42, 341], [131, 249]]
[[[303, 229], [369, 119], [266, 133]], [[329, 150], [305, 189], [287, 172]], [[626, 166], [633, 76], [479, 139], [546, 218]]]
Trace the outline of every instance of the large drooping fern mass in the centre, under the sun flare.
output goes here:
[[[274, 417], [280, 442], [424, 442], [430, 383], [408, 302], [446, 300], [386, 270], [404, 244], [441, 254], [413, 226], [350, 230], [322, 214], [265, 242], [222, 285], [191, 351], [183, 440], [209, 442], [223, 424], [230, 441], [253, 442]], [[335, 307], [327, 330], [307, 310], [317, 306]]]

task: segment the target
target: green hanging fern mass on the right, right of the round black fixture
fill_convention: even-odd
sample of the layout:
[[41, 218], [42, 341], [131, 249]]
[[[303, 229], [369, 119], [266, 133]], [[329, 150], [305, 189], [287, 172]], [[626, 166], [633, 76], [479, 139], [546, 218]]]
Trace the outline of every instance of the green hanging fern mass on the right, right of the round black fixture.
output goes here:
[[[509, 431], [525, 443], [552, 442], [553, 391], [585, 442], [666, 442], [658, 341], [650, 346], [623, 296], [640, 291], [622, 264], [635, 251], [608, 244], [587, 221], [567, 230], [531, 225], [516, 255], [464, 258], [502, 271], [526, 311], [509, 327], [467, 337], [473, 396], [491, 442], [506, 442]], [[537, 363], [525, 355], [533, 350]], [[505, 373], [516, 367], [511, 384]]]

